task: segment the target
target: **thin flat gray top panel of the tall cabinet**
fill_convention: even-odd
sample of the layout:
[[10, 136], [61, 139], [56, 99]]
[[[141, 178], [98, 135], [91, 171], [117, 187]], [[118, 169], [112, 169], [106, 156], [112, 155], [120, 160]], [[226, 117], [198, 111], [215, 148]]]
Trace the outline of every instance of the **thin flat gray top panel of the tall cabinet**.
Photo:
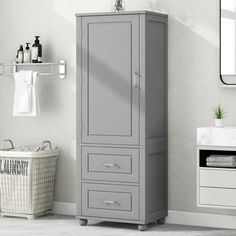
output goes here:
[[110, 15], [137, 15], [137, 14], [149, 14], [161, 17], [168, 17], [167, 14], [152, 12], [152, 11], [121, 11], [121, 12], [93, 12], [93, 13], [77, 13], [78, 16], [110, 16]]

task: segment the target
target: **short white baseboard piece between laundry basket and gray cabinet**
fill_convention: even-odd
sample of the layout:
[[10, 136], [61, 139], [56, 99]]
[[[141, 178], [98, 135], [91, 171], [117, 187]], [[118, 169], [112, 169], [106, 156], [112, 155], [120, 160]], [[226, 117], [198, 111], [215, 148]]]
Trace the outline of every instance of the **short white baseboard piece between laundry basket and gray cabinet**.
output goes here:
[[76, 204], [73, 202], [54, 202], [53, 213], [57, 215], [76, 215]]

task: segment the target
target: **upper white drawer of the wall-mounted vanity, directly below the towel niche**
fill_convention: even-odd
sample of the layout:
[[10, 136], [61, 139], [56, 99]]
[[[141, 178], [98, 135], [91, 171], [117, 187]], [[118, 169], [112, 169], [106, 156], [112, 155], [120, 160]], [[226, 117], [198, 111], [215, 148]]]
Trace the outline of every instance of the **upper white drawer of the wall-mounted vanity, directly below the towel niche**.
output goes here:
[[236, 188], [235, 170], [200, 170], [200, 186]]

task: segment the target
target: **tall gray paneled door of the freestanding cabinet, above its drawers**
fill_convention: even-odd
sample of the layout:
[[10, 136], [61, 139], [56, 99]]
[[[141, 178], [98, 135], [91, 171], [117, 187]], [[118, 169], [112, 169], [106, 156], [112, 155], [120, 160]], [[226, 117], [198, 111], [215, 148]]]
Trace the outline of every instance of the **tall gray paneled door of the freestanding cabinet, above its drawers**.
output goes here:
[[139, 17], [83, 17], [81, 27], [82, 143], [139, 144]]

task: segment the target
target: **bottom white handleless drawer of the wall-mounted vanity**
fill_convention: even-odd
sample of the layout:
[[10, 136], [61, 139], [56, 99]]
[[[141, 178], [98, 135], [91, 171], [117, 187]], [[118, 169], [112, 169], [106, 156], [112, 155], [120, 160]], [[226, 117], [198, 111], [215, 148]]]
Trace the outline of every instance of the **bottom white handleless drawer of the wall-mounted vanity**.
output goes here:
[[236, 189], [201, 187], [200, 204], [236, 207]]

